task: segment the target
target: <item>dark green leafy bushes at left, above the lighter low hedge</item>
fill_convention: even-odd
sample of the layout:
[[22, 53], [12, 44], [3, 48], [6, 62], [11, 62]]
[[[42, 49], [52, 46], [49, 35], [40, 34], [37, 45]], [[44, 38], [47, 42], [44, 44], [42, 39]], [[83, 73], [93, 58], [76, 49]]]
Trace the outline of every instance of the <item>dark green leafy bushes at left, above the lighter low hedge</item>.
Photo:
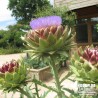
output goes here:
[[21, 36], [26, 34], [20, 29], [20, 25], [16, 24], [8, 26], [8, 30], [0, 30], [0, 48], [17, 47], [24, 48]]

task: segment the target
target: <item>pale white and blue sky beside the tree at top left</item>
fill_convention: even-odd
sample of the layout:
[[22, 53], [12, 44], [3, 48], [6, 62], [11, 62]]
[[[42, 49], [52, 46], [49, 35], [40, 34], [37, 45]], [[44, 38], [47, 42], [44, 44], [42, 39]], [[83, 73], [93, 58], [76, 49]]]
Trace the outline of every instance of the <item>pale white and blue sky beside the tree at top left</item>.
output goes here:
[[[9, 0], [0, 0], [0, 30], [6, 30], [8, 25], [16, 23], [15, 18], [11, 16], [11, 11], [7, 9], [8, 1]], [[53, 4], [53, 0], [50, 0], [50, 3]]]

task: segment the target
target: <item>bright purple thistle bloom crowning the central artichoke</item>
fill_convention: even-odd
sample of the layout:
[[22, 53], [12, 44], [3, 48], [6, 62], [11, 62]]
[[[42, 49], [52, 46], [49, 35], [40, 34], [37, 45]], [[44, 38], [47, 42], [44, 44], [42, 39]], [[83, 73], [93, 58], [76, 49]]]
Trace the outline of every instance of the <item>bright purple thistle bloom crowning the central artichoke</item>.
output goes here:
[[34, 19], [30, 22], [30, 26], [33, 30], [47, 28], [50, 26], [59, 26], [62, 23], [60, 16], [47, 16]]

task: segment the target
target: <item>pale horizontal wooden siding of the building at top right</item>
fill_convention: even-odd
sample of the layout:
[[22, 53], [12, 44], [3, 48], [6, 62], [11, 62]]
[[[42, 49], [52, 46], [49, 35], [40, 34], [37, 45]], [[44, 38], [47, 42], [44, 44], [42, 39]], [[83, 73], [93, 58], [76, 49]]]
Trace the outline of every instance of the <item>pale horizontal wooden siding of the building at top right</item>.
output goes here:
[[98, 5], [98, 0], [54, 0], [54, 4], [55, 6], [67, 5], [69, 9], [74, 10], [83, 7]]

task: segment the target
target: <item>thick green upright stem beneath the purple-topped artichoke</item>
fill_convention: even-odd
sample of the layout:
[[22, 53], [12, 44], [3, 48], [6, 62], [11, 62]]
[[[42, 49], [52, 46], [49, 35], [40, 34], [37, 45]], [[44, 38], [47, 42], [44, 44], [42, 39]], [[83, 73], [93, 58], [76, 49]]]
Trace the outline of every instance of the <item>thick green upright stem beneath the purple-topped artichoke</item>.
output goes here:
[[57, 87], [57, 95], [58, 95], [58, 98], [62, 98], [62, 91], [61, 91], [61, 86], [60, 86], [60, 81], [59, 81], [59, 77], [58, 77], [58, 68], [55, 66], [55, 61], [54, 61], [54, 58], [53, 57], [50, 57], [51, 58], [51, 67], [52, 67], [52, 71], [53, 71], [53, 77], [55, 79], [55, 84], [56, 84], [56, 87]]

